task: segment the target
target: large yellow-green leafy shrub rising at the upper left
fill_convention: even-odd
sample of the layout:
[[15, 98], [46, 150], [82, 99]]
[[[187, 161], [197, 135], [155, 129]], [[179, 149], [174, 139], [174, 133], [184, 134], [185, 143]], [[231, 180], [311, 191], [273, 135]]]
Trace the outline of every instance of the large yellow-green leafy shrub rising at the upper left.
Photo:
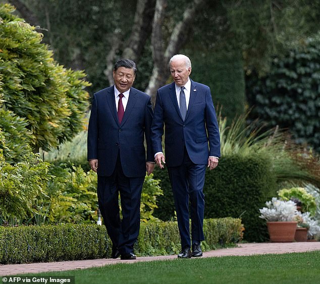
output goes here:
[[0, 6], [0, 70], [6, 110], [25, 118], [35, 140], [48, 149], [70, 140], [82, 129], [89, 83], [81, 71], [65, 69], [41, 43], [42, 34]]

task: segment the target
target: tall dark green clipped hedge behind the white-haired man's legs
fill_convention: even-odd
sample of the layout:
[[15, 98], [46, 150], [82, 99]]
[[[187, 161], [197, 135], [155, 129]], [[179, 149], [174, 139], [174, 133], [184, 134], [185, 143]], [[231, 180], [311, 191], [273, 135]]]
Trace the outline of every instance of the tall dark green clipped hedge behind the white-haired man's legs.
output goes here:
[[[153, 215], [170, 220], [175, 216], [175, 207], [167, 170], [155, 168], [153, 176], [161, 179], [160, 186], [164, 193], [164, 196], [158, 197], [158, 208]], [[265, 222], [258, 218], [258, 209], [277, 192], [276, 176], [270, 160], [258, 154], [222, 157], [215, 170], [207, 170], [203, 192], [205, 218], [241, 216], [245, 240], [262, 242], [268, 239]]]

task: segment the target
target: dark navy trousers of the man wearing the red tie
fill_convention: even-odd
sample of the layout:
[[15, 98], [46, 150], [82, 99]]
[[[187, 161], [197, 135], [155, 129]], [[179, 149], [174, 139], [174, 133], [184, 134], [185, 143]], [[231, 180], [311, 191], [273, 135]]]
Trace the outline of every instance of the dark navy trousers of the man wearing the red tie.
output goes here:
[[144, 176], [125, 176], [121, 167], [120, 155], [118, 155], [117, 165], [111, 176], [98, 176], [99, 209], [113, 246], [118, 247], [121, 254], [133, 252], [133, 246], [138, 238], [143, 181]]

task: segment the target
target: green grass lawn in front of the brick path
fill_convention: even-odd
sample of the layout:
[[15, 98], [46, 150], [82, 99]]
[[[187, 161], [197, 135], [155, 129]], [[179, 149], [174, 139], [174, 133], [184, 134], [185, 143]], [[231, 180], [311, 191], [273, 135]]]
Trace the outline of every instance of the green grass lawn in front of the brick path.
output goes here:
[[120, 263], [83, 270], [30, 275], [74, 275], [75, 284], [201, 282], [315, 284], [320, 283], [320, 251]]

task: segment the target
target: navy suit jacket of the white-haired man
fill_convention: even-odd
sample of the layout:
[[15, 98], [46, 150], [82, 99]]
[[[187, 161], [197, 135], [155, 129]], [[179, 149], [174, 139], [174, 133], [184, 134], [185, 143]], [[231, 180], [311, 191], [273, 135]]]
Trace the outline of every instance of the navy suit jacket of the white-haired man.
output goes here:
[[191, 80], [185, 121], [178, 106], [175, 83], [157, 90], [151, 126], [154, 153], [162, 152], [165, 124], [165, 156], [168, 167], [183, 161], [184, 145], [191, 161], [207, 164], [209, 156], [220, 157], [220, 134], [210, 88]]

